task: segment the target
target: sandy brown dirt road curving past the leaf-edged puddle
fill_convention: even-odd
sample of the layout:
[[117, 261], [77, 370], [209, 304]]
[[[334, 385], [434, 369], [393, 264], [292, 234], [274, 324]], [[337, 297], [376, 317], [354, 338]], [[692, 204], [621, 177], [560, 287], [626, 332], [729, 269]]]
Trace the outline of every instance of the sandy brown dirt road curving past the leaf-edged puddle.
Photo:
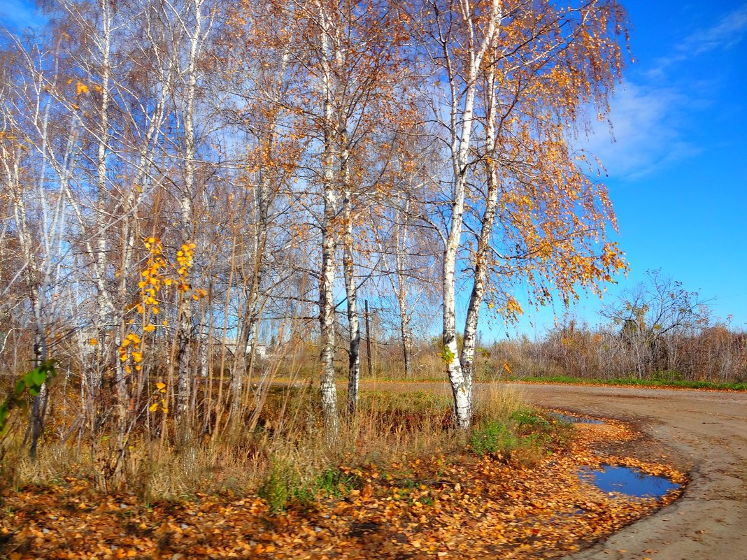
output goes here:
[[[438, 383], [376, 385], [447, 390]], [[539, 406], [633, 423], [650, 438], [647, 447], [666, 452], [692, 477], [674, 504], [567, 560], [747, 560], [747, 393], [517, 387]]]

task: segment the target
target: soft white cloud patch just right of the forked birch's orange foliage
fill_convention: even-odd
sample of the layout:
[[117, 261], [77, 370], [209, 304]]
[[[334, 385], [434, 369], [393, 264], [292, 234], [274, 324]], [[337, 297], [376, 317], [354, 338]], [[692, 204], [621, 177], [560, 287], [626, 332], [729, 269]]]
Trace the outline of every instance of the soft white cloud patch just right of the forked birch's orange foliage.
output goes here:
[[673, 89], [641, 87], [628, 83], [613, 100], [610, 126], [598, 122], [583, 146], [592, 152], [610, 175], [634, 180], [698, 153], [684, 140], [681, 110], [691, 101]]

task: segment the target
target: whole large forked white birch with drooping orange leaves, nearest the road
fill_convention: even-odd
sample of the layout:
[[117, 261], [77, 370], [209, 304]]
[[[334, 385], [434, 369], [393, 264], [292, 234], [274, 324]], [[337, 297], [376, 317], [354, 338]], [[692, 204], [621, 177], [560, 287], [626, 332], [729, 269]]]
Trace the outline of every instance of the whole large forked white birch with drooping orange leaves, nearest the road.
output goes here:
[[[426, 5], [430, 25], [421, 28], [421, 37], [438, 76], [434, 89], [443, 84], [445, 90], [445, 102], [434, 102], [433, 111], [450, 158], [444, 174], [450, 192], [444, 202], [442, 358], [456, 424], [467, 428], [486, 293], [495, 296], [491, 306], [512, 317], [521, 313], [510, 292], [516, 281], [528, 281], [530, 297], [544, 303], [549, 285], [568, 299], [578, 285], [594, 289], [624, 266], [616, 245], [604, 240], [605, 225], [614, 225], [604, 186], [584, 175], [569, 143], [583, 128], [586, 106], [607, 110], [622, 67], [624, 15], [613, 1]], [[497, 218], [503, 221], [494, 236]], [[472, 281], [461, 349], [455, 290], [460, 249], [470, 255]]]

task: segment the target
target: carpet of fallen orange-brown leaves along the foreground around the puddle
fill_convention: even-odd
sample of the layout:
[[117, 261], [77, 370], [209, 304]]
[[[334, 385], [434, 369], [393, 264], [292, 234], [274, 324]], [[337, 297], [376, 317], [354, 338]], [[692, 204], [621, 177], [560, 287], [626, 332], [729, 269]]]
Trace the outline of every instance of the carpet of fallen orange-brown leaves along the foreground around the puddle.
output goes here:
[[[542, 559], [580, 550], [681, 495], [684, 473], [595, 448], [633, 441], [630, 426], [581, 424], [573, 432], [565, 449], [531, 465], [469, 452], [341, 465], [356, 488], [283, 512], [232, 494], [148, 505], [134, 494], [97, 494], [77, 479], [7, 489], [0, 553], [10, 560]], [[579, 467], [601, 464], [636, 467], [681, 487], [638, 498], [577, 476]]]

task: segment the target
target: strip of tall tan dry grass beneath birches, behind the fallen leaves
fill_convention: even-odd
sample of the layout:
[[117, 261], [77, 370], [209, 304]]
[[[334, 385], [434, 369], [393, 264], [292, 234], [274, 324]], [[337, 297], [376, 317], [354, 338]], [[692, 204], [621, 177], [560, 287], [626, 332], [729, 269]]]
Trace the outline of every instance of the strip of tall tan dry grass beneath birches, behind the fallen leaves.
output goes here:
[[[344, 402], [344, 393], [341, 402]], [[505, 420], [522, 405], [513, 388], [478, 388], [477, 414]], [[318, 396], [309, 388], [273, 388], [257, 428], [244, 426], [219, 438], [193, 438], [180, 448], [133, 436], [122, 468], [120, 490], [143, 500], [179, 500], [194, 494], [254, 494], [282, 470], [285, 479], [306, 488], [341, 465], [391, 464], [463, 446], [453, 431], [447, 396], [431, 393], [364, 391], [355, 417], [344, 419], [338, 438], [326, 440]], [[19, 442], [20, 443], [20, 442]], [[14, 485], [60, 485], [87, 479], [99, 489], [102, 469], [116, 454], [114, 441], [43, 446], [37, 461], [17, 445], [6, 455]]]

